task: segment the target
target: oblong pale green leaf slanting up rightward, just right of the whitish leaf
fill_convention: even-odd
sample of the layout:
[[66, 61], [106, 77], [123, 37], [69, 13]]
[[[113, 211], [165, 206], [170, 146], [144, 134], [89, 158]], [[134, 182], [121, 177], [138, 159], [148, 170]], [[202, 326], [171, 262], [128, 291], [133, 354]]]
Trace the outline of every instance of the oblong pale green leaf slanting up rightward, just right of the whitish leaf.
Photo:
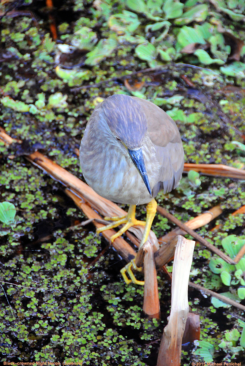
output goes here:
[[87, 59], [85, 61], [86, 65], [94, 66], [98, 64], [105, 57], [111, 55], [114, 49], [117, 46], [117, 41], [115, 38], [108, 38], [100, 40], [97, 46], [93, 49], [93, 51], [87, 53]]

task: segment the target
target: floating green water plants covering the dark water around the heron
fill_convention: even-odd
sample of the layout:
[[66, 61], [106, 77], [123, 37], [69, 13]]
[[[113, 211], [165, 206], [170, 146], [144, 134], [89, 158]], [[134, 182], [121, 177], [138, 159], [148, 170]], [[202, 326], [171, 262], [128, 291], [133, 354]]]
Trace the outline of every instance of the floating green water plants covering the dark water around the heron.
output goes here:
[[[29, 15], [1, 20], [0, 125], [8, 134], [30, 146], [41, 143], [44, 154], [83, 179], [75, 149], [86, 121], [106, 97], [126, 93], [153, 101], [176, 121], [186, 162], [243, 167], [244, 141], [237, 134], [245, 134], [241, 1], [75, 0], [66, 4], [71, 22], [62, 15], [62, 4], [57, 5], [58, 41], [48, 33], [45, 19], [38, 26]], [[37, 14], [33, 6], [29, 10]], [[148, 67], [159, 70], [144, 72]], [[127, 88], [126, 78], [136, 90]], [[229, 91], [230, 86], [235, 89]], [[3, 360], [148, 365], [167, 323], [168, 281], [159, 273], [162, 321], [146, 319], [143, 289], [122, 283], [123, 263], [115, 252], [99, 257], [107, 243], [96, 237], [92, 224], [79, 228], [84, 215], [60, 182], [25, 160], [24, 147], [0, 142], [1, 201], [18, 210], [14, 223], [0, 224]], [[174, 192], [159, 193], [157, 201], [183, 221], [220, 204], [219, 229], [210, 232], [210, 224], [198, 233], [217, 246], [230, 240], [223, 249], [233, 254], [244, 241], [244, 215], [231, 215], [245, 205], [244, 182], [192, 171]], [[144, 209], [137, 214], [143, 216]], [[172, 228], [156, 217], [158, 236]], [[194, 282], [242, 302], [243, 273], [242, 261], [227, 267], [197, 244]], [[201, 341], [195, 355], [183, 352], [186, 365], [216, 356], [241, 359], [245, 328], [224, 303], [213, 304], [214, 299], [190, 291], [190, 307], [202, 317]], [[219, 329], [225, 322], [226, 333]], [[238, 333], [228, 336], [233, 329], [238, 340]]]

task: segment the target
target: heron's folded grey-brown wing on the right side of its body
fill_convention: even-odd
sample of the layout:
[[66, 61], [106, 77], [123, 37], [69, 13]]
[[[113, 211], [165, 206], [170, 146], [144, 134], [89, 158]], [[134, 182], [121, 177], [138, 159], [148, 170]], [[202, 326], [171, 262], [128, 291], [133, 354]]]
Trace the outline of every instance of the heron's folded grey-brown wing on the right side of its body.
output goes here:
[[155, 145], [161, 166], [159, 182], [153, 187], [153, 197], [163, 189], [170, 192], [178, 186], [184, 166], [181, 135], [174, 120], [157, 105], [148, 100], [132, 97], [141, 105], [148, 120], [148, 134]]

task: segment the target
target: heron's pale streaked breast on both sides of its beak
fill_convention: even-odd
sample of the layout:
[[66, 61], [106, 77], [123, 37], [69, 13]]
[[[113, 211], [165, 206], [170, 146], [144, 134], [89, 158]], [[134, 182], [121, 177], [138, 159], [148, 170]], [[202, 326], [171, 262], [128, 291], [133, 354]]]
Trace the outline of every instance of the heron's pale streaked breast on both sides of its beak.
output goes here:
[[[86, 140], [86, 137], [84, 134], [83, 139]], [[160, 164], [156, 159], [155, 147], [147, 134], [142, 153], [153, 189], [159, 182]], [[114, 137], [103, 134], [101, 139], [98, 135], [91, 139], [90, 136], [89, 144], [82, 140], [80, 162], [86, 182], [102, 197], [129, 205], [141, 205], [151, 201], [152, 197], [129, 153]]]

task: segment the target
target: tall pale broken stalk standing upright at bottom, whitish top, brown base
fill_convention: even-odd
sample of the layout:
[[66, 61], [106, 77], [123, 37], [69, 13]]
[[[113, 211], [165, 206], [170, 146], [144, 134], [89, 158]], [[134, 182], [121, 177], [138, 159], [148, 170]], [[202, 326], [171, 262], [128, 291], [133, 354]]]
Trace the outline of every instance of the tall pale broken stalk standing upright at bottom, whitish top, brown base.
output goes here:
[[179, 237], [172, 273], [171, 312], [164, 328], [157, 366], [180, 366], [181, 345], [189, 311], [188, 283], [195, 242]]

